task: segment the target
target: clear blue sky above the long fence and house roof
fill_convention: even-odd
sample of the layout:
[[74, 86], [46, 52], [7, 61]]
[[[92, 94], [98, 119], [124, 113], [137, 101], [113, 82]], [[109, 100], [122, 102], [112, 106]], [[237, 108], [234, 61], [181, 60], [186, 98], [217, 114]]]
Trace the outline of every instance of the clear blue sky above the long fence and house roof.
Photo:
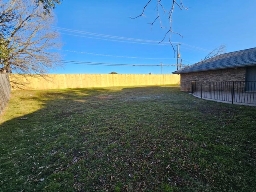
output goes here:
[[[56, 51], [63, 55], [63, 60], [91, 62], [91, 65], [64, 64], [50, 73], [161, 74], [161, 62], [163, 74], [174, 72], [176, 66], [170, 65], [177, 61], [172, 47], [158, 43], [166, 29], [160, 28], [159, 22], [148, 24], [156, 18], [156, 0], [152, 0], [145, 16], [130, 18], [141, 14], [147, 2], [63, 0], [54, 10], [57, 21], [53, 28], [58, 29], [63, 43], [62, 50]], [[170, 1], [162, 0], [162, 3], [168, 10]], [[256, 47], [255, 0], [183, 0], [183, 4], [188, 10], [176, 6], [172, 15], [172, 29], [183, 38], [177, 34], [171, 38], [173, 45], [181, 44], [182, 64], [199, 62], [221, 44], [226, 45], [226, 52]], [[167, 17], [160, 16], [162, 25], [168, 27]]]

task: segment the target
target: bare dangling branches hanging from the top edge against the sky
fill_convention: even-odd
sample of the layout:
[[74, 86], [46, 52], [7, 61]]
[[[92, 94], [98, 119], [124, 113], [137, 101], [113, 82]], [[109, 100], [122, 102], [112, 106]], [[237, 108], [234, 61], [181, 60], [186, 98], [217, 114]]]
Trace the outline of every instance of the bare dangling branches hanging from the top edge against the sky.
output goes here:
[[[183, 5], [182, 0], [171, 0], [170, 6], [168, 6], [168, 9], [167, 9], [167, 10], [168, 10], [168, 16], [167, 16], [167, 17], [168, 17], [169, 24], [168, 24], [168, 28], [166, 28], [166, 27], [163, 27], [163, 26], [162, 26], [162, 19], [161, 19], [161, 16], [160, 16], [160, 10], [163, 12], [162, 17], [164, 17], [164, 16], [165, 16], [164, 14], [166, 13], [166, 9], [164, 8], [164, 6], [163, 6], [163, 4], [162, 4], [161, 1], [162, 1], [162, 0], [157, 0], [157, 1], [155, 2], [155, 3], [156, 3], [156, 15], [157, 15], [157, 16], [156, 16], [156, 18], [153, 20], [153, 22], [150, 23], [150, 25], [153, 26], [154, 23], [158, 20], [159, 23], [160, 23], [160, 27], [167, 29], [167, 32], [165, 33], [164, 38], [163, 38], [160, 42], [162, 42], [162, 41], [168, 36], [168, 37], [169, 37], [169, 38], [168, 38], [168, 41], [169, 41], [170, 44], [172, 45], [172, 42], [171, 42], [171, 36], [172, 36], [172, 34], [178, 34], [178, 35], [180, 35], [180, 36], [182, 37], [182, 35], [181, 35], [180, 33], [174, 32], [174, 31], [172, 30], [172, 13], [173, 13], [173, 11], [174, 11], [174, 8], [175, 8], [175, 6], [178, 6], [178, 8], [179, 8], [180, 10], [182, 10], [182, 9], [188, 10], [188, 8]], [[140, 15], [136, 16], [136, 17], [131, 17], [131, 18], [132, 18], [132, 19], [136, 19], [136, 18], [138, 18], [138, 17], [144, 16], [144, 12], [146, 11], [146, 8], [148, 7], [148, 5], [149, 5], [151, 2], [152, 2], [152, 0], [148, 0], [148, 2], [146, 3], [146, 5], [144, 6], [144, 8], [143, 8], [143, 10], [142, 10], [142, 13], [141, 13]], [[182, 38], [183, 38], [183, 37], [182, 37]], [[174, 50], [174, 46], [173, 46], [173, 45], [172, 45], [172, 48], [173, 48], [173, 50]]]

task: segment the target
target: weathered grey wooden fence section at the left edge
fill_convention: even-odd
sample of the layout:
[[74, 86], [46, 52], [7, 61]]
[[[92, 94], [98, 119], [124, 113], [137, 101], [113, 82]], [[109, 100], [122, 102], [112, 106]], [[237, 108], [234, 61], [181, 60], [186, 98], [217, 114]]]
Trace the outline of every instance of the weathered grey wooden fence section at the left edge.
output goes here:
[[7, 73], [0, 73], [0, 114], [10, 99], [11, 86]]

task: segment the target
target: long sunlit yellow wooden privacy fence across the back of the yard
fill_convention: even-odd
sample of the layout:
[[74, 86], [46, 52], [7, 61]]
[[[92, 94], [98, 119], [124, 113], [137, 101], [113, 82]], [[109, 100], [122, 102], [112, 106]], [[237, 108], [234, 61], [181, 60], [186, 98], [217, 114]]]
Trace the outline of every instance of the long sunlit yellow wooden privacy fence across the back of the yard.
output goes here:
[[12, 90], [180, 84], [178, 74], [46, 74], [43, 76], [9, 74], [9, 78]]

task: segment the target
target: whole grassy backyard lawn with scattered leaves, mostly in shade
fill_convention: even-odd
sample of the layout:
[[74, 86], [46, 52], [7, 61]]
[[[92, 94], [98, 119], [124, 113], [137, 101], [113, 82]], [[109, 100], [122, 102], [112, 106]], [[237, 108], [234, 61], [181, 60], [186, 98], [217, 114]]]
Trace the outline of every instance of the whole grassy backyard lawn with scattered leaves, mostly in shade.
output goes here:
[[2, 192], [253, 192], [256, 108], [171, 86], [14, 91]]

